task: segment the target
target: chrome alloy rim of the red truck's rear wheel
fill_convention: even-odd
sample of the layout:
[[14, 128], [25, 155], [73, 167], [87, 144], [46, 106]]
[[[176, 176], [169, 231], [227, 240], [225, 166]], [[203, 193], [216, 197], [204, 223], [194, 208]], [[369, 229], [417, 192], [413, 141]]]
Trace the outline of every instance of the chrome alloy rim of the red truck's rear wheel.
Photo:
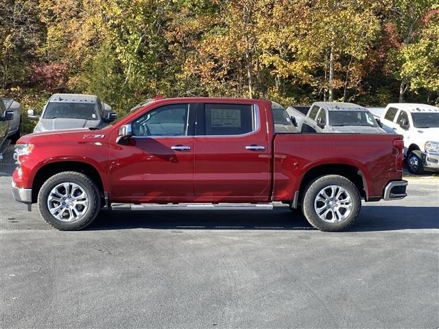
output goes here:
[[314, 210], [327, 223], [340, 223], [352, 211], [351, 195], [342, 186], [330, 185], [322, 188], [314, 200]]

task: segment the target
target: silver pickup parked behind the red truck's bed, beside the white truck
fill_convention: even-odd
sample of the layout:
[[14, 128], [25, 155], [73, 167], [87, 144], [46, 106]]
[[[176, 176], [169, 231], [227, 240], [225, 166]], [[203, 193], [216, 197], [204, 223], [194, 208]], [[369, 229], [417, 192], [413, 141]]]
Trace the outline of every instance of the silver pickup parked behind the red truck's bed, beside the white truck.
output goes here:
[[385, 134], [366, 108], [353, 103], [316, 102], [306, 116], [292, 106], [287, 112], [300, 132]]

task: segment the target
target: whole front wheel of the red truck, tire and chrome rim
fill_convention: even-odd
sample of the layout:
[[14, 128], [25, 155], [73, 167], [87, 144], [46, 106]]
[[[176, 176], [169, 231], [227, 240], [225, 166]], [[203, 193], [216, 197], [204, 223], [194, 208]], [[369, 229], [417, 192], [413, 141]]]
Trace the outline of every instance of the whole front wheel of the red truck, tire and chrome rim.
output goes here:
[[38, 193], [38, 210], [58, 230], [88, 226], [101, 208], [99, 189], [82, 173], [64, 171], [49, 178]]

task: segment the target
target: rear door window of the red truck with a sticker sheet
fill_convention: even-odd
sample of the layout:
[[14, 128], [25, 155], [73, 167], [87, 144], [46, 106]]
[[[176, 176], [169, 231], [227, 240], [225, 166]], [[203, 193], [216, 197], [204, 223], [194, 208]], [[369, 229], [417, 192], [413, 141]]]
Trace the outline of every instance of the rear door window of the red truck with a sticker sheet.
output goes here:
[[204, 110], [198, 111], [197, 135], [239, 136], [256, 130], [257, 115], [251, 105], [204, 104]]

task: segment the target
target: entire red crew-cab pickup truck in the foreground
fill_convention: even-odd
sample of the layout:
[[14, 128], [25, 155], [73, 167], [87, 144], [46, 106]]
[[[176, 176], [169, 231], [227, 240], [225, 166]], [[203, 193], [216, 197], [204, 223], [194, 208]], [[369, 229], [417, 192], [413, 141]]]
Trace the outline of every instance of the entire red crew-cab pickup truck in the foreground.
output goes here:
[[154, 99], [100, 130], [20, 138], [12, 194], [59, 230], [84, 228], [112, 203], [278, 201], [337, 231], [355, 221], [361, 199], [406, 196], [402, 136], [299, 134], [291, 124], [271, 101]]

